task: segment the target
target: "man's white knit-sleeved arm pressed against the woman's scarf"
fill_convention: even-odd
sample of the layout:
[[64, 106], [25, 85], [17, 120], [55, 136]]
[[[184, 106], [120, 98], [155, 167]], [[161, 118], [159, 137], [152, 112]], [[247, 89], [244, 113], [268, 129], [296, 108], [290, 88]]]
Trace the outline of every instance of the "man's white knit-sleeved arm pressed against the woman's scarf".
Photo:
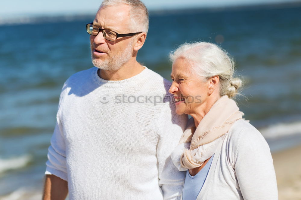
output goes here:
[[[172, 103], [171, 103], [172, 104]], [[159, 119], [160, 135], [157, 145], [159, 186], [164, 200], [180, 199], [185, 179], [185, 171], [179, 171], [172, 162], [170, 153], [178, 145], [186, 127], [187, 115], [175, 114], [175, 105], [165, 108]]]

